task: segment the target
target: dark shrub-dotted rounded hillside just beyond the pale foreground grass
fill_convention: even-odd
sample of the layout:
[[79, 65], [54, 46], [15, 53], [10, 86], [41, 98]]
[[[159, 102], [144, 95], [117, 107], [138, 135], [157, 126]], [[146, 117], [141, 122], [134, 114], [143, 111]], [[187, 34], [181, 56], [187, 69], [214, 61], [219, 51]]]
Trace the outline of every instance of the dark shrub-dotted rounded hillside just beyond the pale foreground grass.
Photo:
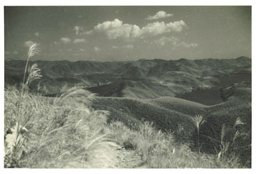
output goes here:
[[[223, 89], [223, 95], [229, 94], [226, 102], [206, 106], [176, 97], [160, 97], [157, 99], [128, 99], [119, 97], [97, 97], [92, 107], [111, 112], [109, 121], [122, 121], [125, 125], [136, 127], [144, 121], [152, 122], [156, 129], [174, 132], [176, 141], [191, 143], [195, 147], [196, 127], [191, 118], [202, 114], [206, 123], [201, 126], [201, 149], [215, 154], [221, 149], [222, 140], [230, 142], [229, 152], [235, 152], [242, 163], [250, 166], [251, 156], [251, 89], [250, 85], [233, 85]], [[240, 95], [239, 92], [244, 95]], [[247, 91], [245, 93], [244, 91]], [[230, 95], [230, 93], [232, 93]], [[242, 125], [235, 126], [237, 119]], [[222, 138], [222, 129], [227, 128], [228, 135]], [[178, 134], [181, 130], [183, 134]], [[233, 141], [234, 135], [238, 137]]]

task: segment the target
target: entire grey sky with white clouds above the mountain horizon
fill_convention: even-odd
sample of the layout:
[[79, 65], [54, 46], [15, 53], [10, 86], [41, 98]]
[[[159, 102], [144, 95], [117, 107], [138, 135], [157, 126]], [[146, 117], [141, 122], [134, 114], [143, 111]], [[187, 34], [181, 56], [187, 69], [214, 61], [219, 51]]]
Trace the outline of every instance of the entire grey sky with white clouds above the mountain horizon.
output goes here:
[[251, 6], [5, 6], [5, 60], [251, 58]]

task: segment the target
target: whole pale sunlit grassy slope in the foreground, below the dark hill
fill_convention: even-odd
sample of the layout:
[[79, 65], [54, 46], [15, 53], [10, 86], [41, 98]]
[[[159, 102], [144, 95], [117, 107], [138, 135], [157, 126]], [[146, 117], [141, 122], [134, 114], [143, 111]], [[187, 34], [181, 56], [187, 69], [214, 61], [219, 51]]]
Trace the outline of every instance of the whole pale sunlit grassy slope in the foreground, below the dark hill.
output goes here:
[[[246, 167], [238, 158], [193, 152], [148, 121], [130, 126], [110, 123], [107, 117], [113, 113], [92, 109], [92, 100], [90, 92], [77, 88], [56, 98], [6, 89], [5, 168]], [[119, 161], [129, 161], [127, 152], [137, 161]]]

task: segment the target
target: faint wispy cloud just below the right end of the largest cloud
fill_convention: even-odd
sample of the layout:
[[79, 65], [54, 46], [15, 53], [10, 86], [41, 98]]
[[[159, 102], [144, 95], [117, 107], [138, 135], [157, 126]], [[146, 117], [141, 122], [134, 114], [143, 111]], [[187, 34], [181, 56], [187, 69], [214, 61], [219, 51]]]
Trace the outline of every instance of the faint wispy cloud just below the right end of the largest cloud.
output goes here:
[[163, 36], [157, 40], [154, 40], [154, 43], [156, 45], [161, 45], [161, 46], [164, 46], [164, 45], [166, 45], [166, 43], [169, 43], [169, 45], [171, 45], [173, 49], [198, 47], [198, 43], [187, 43], [185, 41], [179, 40], [178, 38], [176, 38], [174, 36], [171, 36], [171, 37]]

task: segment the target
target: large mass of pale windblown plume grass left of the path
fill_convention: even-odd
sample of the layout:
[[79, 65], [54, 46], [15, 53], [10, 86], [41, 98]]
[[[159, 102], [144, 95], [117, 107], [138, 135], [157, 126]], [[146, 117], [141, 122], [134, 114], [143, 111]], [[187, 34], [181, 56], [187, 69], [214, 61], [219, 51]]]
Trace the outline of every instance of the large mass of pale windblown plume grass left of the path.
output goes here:
[[109, 113], [90, 108], [95, 94], [80, 87], [55, 99], [31, 94], [29, 85], [41, 78], [41, 70], [36, 64], [28, 67], [28, 61], [38, 53], [36, 44], [28, 50], [21, 90], [5, 89], [4, 167], [107, 167], [112, 162]]

